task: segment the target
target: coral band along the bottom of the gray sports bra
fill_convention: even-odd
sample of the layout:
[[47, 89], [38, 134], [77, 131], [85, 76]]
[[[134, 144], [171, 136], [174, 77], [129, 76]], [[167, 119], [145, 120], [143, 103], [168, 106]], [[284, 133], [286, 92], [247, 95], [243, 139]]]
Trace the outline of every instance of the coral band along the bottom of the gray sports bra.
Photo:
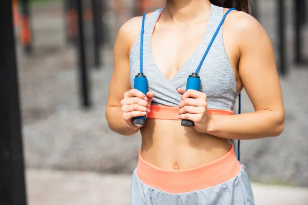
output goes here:
[[[210, 115], [233, 115], [234, 111], [207, 109], [207, 113]], [[179, 120], [178, 115], [179, 115], [179, 107], [151, 105], [151, 112], [148, 114], [147, 117], [155, 119]]]

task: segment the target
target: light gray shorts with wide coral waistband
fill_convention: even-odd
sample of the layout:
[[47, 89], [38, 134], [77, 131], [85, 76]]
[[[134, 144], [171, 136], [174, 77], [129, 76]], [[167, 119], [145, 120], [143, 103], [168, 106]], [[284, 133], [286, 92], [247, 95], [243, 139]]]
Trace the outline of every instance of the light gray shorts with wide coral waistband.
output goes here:
[[140, 154], [131, 178], [130, 204], [253, 205], [255, 202], [246, 167], [237, 161], [232, 147], [228, 154], [208, 165], [181, 172], [156, 168]]

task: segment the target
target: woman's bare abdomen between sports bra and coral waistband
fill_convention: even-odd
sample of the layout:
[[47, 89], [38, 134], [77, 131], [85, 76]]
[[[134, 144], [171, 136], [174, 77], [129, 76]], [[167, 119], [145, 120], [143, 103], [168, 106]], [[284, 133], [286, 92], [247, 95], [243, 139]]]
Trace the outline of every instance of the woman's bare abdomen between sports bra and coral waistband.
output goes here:
[[141, 135], [143, 159], [165, 170], [205, 165], [224, 156], [231, 147], [228, 139], [182, 127], [180, 120], [147, 118]]

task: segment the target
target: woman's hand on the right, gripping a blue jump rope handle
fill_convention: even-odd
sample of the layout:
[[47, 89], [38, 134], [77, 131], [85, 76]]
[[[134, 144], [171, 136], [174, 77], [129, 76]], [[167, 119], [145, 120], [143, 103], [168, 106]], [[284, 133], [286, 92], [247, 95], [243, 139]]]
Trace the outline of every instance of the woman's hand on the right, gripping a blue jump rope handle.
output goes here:
[[182, 95], [182, 101], [179, 104], [179, 119], [189, 119], [195, 123], [195, 129], [198, 132], [206, 132], [210, 115], [207, 113], [206, 94], [196, 91], [179, 88], [178, 93]]

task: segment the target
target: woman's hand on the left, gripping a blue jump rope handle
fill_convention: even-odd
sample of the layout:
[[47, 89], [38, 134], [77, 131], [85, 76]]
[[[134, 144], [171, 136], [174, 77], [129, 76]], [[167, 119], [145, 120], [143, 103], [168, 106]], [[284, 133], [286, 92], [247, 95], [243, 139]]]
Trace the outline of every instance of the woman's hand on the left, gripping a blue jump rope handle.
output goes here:
[[132, 118], [147, 116], [150, 112], [153, 97], [152, 92], [147, 92], [145, 95], [137, 89], [131, 89], [124, 93], [124, 98], [121, 100], [121, 110], [123, 119], [130, 128], [139, 129], [139, 127], [132, 125]]

